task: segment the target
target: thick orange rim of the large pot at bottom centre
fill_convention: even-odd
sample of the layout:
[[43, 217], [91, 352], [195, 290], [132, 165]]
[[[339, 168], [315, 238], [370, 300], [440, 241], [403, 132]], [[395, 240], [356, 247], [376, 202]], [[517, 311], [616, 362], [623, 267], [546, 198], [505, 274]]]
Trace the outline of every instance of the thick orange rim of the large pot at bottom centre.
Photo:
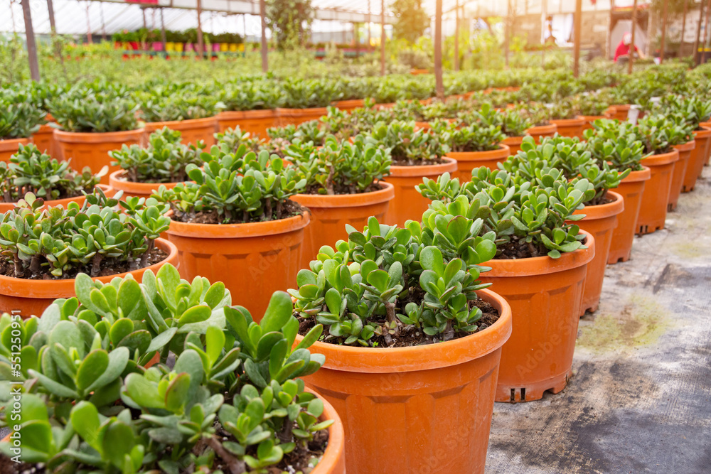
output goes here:
[[[326, 356], [324, 367], [328, 370], [370, 374], [439, 369], [478, 359], [506, 343], [511, 335], [512, 314], [508, 302], [498, 293], [488, 289], [477, 290], [476, 293], [499, 311], [496, 323], [481, 333], [446, 343], [407, 348], [362, 348], [316, 341], [311, 345], [311, 350]], [[302, 338], [297, 334], [294, 344], [298, 344]]]

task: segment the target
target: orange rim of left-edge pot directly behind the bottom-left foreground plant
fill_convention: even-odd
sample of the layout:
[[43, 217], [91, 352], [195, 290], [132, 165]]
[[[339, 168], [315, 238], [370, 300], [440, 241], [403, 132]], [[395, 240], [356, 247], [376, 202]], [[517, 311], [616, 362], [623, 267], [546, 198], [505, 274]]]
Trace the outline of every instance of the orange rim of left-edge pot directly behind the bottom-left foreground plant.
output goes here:
[[[112, 281], [114, 278], [123, 278], [128, 274], [134, 274], [135, 276], [137, 272], [141, 272], [141, 275], [145, 271], [153, 271], [155, 273], [161, 266], [169, 263], [171, 260], [177, 261], [178, 247], [176, 247], [175, 244], [159, 237], [156, 239], [156, 247], [168, 252], [168, 256], [161, 260], [161, 262], [156, 262], [141, 269], [124, 271], [123, 273], [95, 276], [92, 277], [92, 280], [101, 281], [102, 283], [109, 283], [109, 281]], [[74, 282], [75, 279], [73, 278], [59, 280], [31, 280], [0, 275], [0, 288], [2, 288], [2, 294], [5, 296], [16, 296], [21, 298], [64, 298], [74, 292]]]

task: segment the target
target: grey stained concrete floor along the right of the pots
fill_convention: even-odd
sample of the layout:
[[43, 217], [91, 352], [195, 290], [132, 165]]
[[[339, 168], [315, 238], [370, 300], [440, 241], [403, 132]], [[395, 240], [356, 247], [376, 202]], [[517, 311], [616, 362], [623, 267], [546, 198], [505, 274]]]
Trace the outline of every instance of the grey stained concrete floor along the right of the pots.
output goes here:
[[666, 227], [607, 267], [568, 387], [495, 404], [487, 473], [711, 473], [709, 178]]

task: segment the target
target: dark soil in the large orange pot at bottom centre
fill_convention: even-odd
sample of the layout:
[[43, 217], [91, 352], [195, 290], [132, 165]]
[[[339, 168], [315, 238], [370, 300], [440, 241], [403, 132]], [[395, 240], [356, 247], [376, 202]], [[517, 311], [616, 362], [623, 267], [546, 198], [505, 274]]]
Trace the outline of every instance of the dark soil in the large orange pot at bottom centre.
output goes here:
[[[420, 301], [422, 298], [420, 298]], [[404, 308], [407, 303], [409, 303], [410, 300], [407, 301], [401, 301], [400, 304]], [[416, 301], [417, 302], [417, 301]], [[498, 317], [500, 316], [498, 313], [498, 309], [494, 308], [491, 303], [487, 303], [486, 301], [483, 301], [482, 299], [476, 299], [474, 301], [469, 301], [469, 308], [474, 308], [476, 306], [477, 308], [481, 309], [481, 318], [479, 321], [476, 321], [477, 328], [475, 331], [472, 332], [465, 332], [465, 331], [457, 331], [452, 333], [451, 337], [447, 340], [454, 340], [454, 339], [459, 339], [459, 338], [466, 338], [468, 335], [472, 335], [475, 333], [481, 333], [481, 331], [485, 330], [489, 326], [491, 326], [493, 323], [496, 323], [498, 320]], [[398, 308], [395, 308], [395, 312], [397, 313]], [[299, 320], [299, 334], [301, 335], [306, 335], [306, 333], [311, 330], [311, 328], [316, 325], [316, 319], [315, 318], [302, 318], [301, 316], [296, 315], [296, 319]], [[383, 319], [378, 321], [380, 325], [384, 325], [387, 322], [387, 318], [383, 316]], [[404, 325], [400, 323], [400, 321], [397, 321], [398, 326], [400, 327], [400, 334], [399, 335], [390, 335], [390, 343], [385, 338], [385, 335], [378, 335], [375, 334], [373, 335], [372, 338], [370, 338], [370, 342], [373, 343], [373, 347], [375, 348], [410, 348], [413, 346], [417, 345], [427, 345], [427, 344], [434, 344], [434, 343], [442, 343], [444, 342], [445, 335], [444, 333], [438, 334], [436, 336], [430, 336], [422, 332], [422, 330], [417, 329], [413, 325]], [[385, 330], [385, 329], [383, 329]], [[324, 335], [328, 335], [328, 330], [324, 330]], [[331, 338], [331, 339], [326, 339], [324, 338], [324, 335], [321, 335], [321, 342], [324, 343], [333, 343], [333, 344], [342, 344], [346, 338]]]

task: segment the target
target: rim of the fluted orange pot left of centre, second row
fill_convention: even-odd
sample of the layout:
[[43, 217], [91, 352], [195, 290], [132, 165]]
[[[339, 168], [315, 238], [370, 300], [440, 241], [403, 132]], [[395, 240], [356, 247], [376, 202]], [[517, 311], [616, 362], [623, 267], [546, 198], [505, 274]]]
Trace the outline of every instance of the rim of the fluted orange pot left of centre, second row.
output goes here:
[[[166, 213], [169, 217], [172, 214], [172, 210]], [[243, 239], [286, 234], [287, 232], [301, 230], [306, 225], [309, 225], [310, 220], [311, 212], [308, 209], [304, 210], [303, 214], [287, 217], [286, 219], [249, 222], [247, 224], [196, 224], [194, 222], [178, 222], [171, 218], [171, 226], [166, 232], [168, 235], [199, 239]]]

